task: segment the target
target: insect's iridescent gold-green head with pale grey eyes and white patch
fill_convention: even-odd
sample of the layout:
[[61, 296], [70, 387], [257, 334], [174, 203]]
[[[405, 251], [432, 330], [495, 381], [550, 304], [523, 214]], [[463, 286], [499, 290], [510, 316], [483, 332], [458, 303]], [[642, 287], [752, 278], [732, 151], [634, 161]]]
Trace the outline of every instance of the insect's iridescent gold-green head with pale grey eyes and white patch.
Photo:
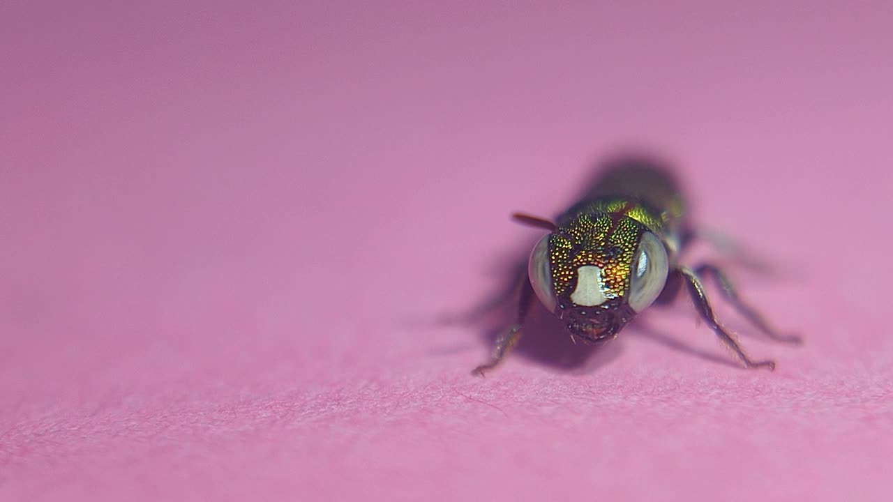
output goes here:
[[647, 226], [617, 213], [582, 213], [540, 239], [530, 255], [539, 300], [584, 339], [613, 336], [655, 301], [669, 268]]

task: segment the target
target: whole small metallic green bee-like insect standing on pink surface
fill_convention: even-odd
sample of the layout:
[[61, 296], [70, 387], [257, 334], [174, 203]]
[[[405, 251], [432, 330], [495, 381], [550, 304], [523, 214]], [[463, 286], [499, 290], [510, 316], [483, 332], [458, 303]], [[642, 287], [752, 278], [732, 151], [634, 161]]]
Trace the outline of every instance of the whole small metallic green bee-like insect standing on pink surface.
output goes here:
[[754, 360], [717, 321], [703, 280], [712, 278], [722, 296], [772, 339], [782, 335], [738, 295], [714, 264], [689, 267], [680, 254], [697, 238], [680, 186], [667, 167], [647, 157], [618, 157], [579, 202], [555, 221], [514, 213], [517, 222], [548, 230], [530, 253], [522, 272], [515, 322], [497, 338], [493, 354], [473, 373], [483, 375], [503, 360], [521, 339], [524, 321], [537, 297], [566, 323], [572, 340], [599, 343], [614, 339], [653, 303], [667, 304], [687, 289], [697, 313], [747, 368], [775, 369], [772, 360]]

